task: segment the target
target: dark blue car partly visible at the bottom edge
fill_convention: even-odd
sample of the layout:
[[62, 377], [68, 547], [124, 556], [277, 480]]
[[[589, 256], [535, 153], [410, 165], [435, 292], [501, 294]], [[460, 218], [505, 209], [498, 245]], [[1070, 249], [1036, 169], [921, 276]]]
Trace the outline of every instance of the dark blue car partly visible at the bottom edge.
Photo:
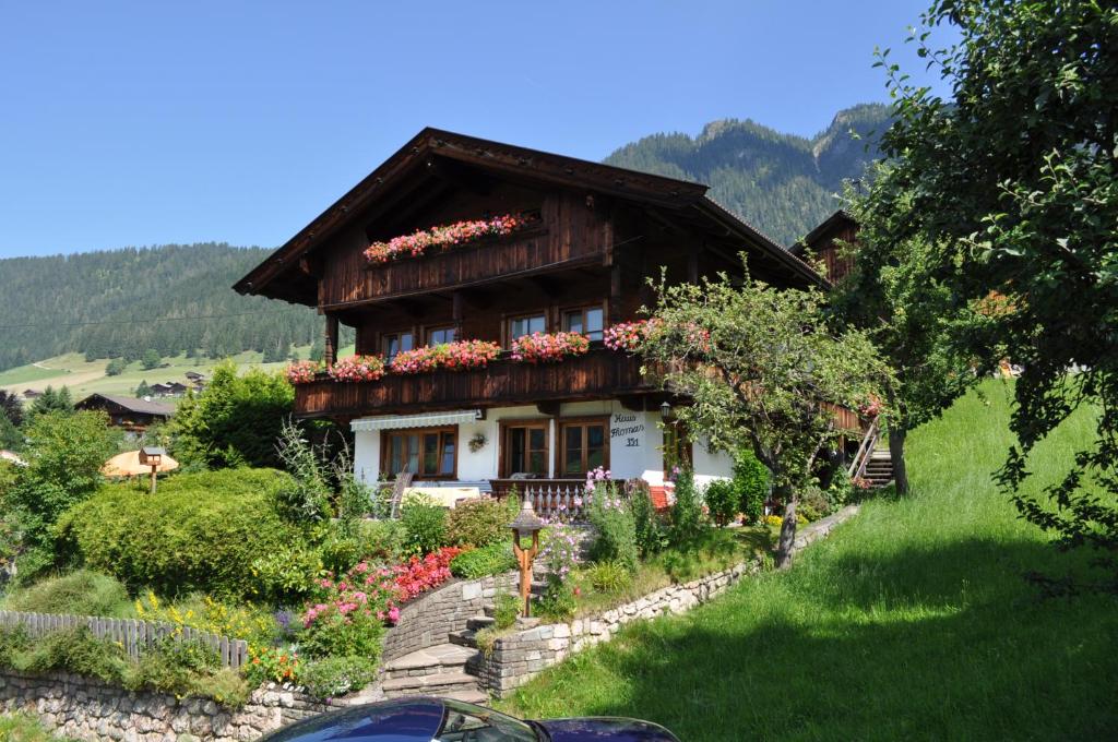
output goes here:
[[260, 742], [680, 742], [635, 719], [520, 721], [449, 698], [398, 698], [292, 724]]

